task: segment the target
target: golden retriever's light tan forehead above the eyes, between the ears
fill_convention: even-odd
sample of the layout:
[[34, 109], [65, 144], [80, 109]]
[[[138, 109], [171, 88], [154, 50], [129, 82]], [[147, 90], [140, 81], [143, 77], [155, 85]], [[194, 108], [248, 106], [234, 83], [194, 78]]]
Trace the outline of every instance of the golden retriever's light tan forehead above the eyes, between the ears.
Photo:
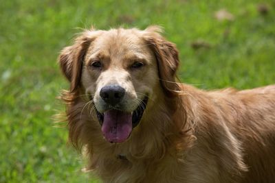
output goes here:
[[98, 36], [89, 49], [91, 54], [103, 53], [109, 57], [148, 54], [148, 47], [137, 29], [111, 29]]

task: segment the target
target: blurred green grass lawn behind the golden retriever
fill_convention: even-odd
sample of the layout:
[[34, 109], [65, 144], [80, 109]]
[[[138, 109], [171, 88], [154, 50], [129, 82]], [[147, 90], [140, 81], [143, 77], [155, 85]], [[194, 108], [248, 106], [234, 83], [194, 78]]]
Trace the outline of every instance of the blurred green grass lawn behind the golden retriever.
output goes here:
[[274, 0], [1, 1], [0, 182], [97, 182], [52, 119], [68, 88], [56, 58], [79, 27], [161, 25], [182, 82], [243, 89], [275, 82], [274, 10]]

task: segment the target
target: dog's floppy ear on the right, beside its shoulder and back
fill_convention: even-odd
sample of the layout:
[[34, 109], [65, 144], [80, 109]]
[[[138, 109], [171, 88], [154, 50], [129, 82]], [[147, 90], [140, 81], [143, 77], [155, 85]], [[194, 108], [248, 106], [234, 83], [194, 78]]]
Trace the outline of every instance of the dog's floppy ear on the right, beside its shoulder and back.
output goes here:
[[159, 71], [159, 80], [164, 92], [172, 97], [179, 90], [176, 84], [176, 71], [179, 66], [179, 53], [173, 42], [161, 36], [162, 29], [150, 26], [144, 30], [144, 40], [155, 54]]

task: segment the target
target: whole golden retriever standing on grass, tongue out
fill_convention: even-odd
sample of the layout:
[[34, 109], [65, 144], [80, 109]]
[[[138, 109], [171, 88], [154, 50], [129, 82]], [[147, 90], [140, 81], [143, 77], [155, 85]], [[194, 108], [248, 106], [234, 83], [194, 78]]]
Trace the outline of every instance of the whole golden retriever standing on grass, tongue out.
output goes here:
[[275, 182], [275, 85], [177, 82], [161, 27], [87, 29], [58, 58], [69, 141], [103, 182]]

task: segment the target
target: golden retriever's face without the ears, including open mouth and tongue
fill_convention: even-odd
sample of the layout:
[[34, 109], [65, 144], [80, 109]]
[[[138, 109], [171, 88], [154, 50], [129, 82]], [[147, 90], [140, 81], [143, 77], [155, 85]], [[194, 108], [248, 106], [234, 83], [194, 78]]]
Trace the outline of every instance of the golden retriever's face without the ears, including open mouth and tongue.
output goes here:
[[155, 58], [144, 45], [130, 30], [102, 32], [85, 56], [81, 82], [107, 141], [126, 140], [158, 83]]

